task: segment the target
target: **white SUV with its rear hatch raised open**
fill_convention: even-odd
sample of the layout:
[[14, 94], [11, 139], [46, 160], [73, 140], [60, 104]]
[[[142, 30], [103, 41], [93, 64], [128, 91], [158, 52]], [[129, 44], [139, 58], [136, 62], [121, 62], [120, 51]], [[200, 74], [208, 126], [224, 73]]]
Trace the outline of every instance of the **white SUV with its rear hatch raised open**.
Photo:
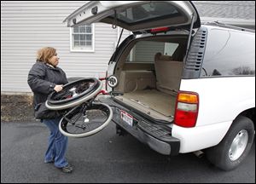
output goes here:
[[254, 31], [201, 25], [193, 3], [182, 1], [93, 1], [66, 21], [132, 32], [108, 64], [115, 95], [99, 99], [113, 107], [119, 134], [166, 155], [206, 152], [223, 170], [246, 158], [255, 124]]

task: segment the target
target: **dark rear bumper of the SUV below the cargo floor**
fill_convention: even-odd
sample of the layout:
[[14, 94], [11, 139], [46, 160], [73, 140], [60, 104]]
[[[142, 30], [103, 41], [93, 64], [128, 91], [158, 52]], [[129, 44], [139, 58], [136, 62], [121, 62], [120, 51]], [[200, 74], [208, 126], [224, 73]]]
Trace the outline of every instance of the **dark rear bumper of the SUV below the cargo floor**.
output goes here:
[[[141, 115], [128, 109], [128, 107], [120, 106], [114, 101], [110, 100], [102, 102], [113, 106], [113, 122], [136, 137], [137, 140], [161, 154], [177, 155], [179, 153], [180, 140], [172, 137], [172, 128], [169, 126], [165, 124], [154, 124], [154, 122], [150, 122], [150, 120], [143, 118]], [[120, 116], [121, 111], [131, 114], [131, 116], [136, 119], [133, 121], [132, 126], [122, 120]]]

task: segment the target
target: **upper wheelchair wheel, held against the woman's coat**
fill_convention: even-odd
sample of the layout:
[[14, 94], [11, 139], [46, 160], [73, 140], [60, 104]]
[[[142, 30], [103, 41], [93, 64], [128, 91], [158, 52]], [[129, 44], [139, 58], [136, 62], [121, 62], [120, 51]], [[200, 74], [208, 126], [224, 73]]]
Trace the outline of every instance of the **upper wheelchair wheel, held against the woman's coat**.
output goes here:
[[89, 101], [102, 89], [102, 82], [96, 78], [83, 78], [63, 86], [60, 92], [51, 93], [45, 102], [49, 110], [62, 110], [79, 106]]

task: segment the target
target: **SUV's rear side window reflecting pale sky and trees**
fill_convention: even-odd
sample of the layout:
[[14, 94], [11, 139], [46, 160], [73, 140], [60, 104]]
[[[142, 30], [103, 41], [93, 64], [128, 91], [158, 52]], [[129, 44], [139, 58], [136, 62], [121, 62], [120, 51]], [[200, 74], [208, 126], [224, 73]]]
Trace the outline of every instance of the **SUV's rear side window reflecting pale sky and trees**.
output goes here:
[[201, 77], [255, 75], [255, 39], [251, 34], [211, 30]]

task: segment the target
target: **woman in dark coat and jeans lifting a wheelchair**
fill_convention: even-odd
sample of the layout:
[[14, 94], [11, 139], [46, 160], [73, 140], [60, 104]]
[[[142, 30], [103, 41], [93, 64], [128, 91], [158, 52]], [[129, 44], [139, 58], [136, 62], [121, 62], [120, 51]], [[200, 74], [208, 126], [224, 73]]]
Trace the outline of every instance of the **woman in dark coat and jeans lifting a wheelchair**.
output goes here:
[[[56, 49], [45, 47], [38, 50], [37, 62], [28, 73], [27, 83], [33, 96], [34, 106], [45, 102], [48, 95], [62, 90], [62, 85], [67, 83], [65, 72], [57, 65], [59, 57]], [[70, 173], [73, 167], [67, 163], [65, 154], [67, 151], [67, 136], [61, 134], [58, 128], [60, 117], [41, 119], [50, 131], [48, 148], [45, 152], [44, 163], [54, 163], [55, 167], [63, 172]]]

